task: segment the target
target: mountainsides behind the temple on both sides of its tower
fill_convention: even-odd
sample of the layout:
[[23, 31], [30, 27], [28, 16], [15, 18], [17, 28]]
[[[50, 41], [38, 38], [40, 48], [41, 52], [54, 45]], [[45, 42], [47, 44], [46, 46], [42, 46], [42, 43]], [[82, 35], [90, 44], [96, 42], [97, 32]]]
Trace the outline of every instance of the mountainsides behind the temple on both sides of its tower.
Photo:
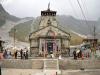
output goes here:
[[[88, 36], [93, 36], [94, 25], [96, 27], [96, 38], [100, 38], [100, 19], [98, 21], [80, 20], [72, 16], [57, 15], [58, 27], [65, 31], [69, 31], [71, 34], [71, 45], [78, 45], [82, 43], [82, 40]], [[39, 28], [40, 17], [36, 19], [24, 18], [27, 21], [16, 25], [16, 39], [23, 42], [28, 42], [30, 32]], [[32, 26], [33, 25], [33, 26]], [[10, 36], [13, 36], [13, 30], [11, 29]]]

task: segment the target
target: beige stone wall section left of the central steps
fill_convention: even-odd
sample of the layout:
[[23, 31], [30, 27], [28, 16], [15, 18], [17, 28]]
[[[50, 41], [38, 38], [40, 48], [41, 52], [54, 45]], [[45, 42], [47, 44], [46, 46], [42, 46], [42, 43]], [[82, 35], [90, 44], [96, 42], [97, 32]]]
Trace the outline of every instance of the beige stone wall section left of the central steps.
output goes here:
[[20, 60], [20, 59], [5, 59], [2, 62], [2, 68], [16, 68], [16, 69], [42, 69], [43, 60]]

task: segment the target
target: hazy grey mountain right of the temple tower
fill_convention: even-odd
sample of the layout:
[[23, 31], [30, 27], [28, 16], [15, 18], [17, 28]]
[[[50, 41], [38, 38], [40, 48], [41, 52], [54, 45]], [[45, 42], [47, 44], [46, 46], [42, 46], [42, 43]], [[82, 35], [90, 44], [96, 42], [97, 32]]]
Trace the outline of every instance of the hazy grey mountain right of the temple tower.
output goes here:
[[69, 27], [71, 30], [84, 35], [92, 34], [93, 25], [97, 25], [97, 21], [79, 20], [66, 15], [57, 16], [57, 20], [60, 25], [67, 28]]

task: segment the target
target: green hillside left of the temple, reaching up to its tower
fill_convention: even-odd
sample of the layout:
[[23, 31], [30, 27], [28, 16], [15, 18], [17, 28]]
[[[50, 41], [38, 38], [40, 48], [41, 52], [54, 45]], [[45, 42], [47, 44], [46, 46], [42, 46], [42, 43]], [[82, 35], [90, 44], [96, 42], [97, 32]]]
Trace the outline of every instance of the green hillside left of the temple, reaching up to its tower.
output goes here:
[[[18, 39], [20, 41], [28, 42], [29, 34], [32, 32], [31, 27], [33, 27], [33, 30], [36, 30], [39, 25], [39, 20], [40, 19], [37, 18], [37, 20], [35, 22], [34, 22], [34, 20], [30, 20], [30, 21], [16, 25], [14, 27], [16, 29], [16, 39]], [[34, 24], [32, 24], [33, 22], [34, 22]], [[31, 24], [33, 26], [31, 26]], [[12, 37], [14, 34], [14, 28], [12, 28], [11, 31], [9, 32], [9, 35]]]

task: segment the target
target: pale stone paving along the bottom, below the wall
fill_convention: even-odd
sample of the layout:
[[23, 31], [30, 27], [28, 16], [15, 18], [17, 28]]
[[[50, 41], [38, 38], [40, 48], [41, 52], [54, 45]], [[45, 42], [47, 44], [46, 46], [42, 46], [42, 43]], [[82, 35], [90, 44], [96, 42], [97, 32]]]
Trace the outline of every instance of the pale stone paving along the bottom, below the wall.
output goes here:
[[[37, 69], [2, 69], [2, 75], [56, 75], [56, 70], [37, 70]], [[90, 70], [62, 70], [57, 75], [100, 75], [100, 69]]]

